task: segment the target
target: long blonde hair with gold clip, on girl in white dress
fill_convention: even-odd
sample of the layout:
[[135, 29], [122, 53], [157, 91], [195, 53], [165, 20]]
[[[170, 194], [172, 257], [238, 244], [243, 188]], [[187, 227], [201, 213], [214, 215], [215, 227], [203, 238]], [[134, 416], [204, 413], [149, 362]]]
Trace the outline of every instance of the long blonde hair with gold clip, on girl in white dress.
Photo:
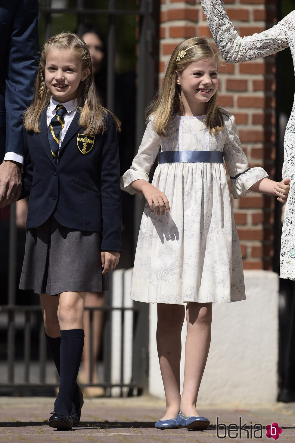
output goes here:
[[[186, 54], [176, 62], [179, 51]], [[159, 136], [167, 136], [167, 128], [174, 118], [174, 114], [183, 115], [183, 103], [179, 85], [176, 84], [176, 70], [179, 74], [190, 65], [204, 58], [213, 58], [218, 64], [218, 55], [205, 37], [192, 37], [179, 43], [173, 51], [165, 71], [162, 88], [155, 99], [147, 107], [147, 122], [154, 115], [153, 126]], [[206, 103], [206, 124], [210, 134], [224, 128], [223, 110], [217, 105], [217, 91]]]

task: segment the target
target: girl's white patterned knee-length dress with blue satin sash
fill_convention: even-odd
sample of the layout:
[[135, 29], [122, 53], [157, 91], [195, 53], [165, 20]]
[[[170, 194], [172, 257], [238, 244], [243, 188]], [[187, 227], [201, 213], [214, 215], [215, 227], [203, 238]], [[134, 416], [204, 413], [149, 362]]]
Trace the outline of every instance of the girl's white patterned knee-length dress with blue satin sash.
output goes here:
[[[267, 177], [260, 167], [248, 169], [234, 117], [210, 136], [205, 116], [175, 116], [168, 137], [147, 125], [138, 154], [121, 179], [130, 194], [136, 179], [148, 181], [159, 152], [222, 151], [234, 198]], [[131, 298], [150, 303], [228, 303], [245, 299], [240, 242], [233, 219], [223, 163], [162, 163], [152, 184], [170, 204], [166, 215], [151, 213], [146, 203], [133, 268]]]

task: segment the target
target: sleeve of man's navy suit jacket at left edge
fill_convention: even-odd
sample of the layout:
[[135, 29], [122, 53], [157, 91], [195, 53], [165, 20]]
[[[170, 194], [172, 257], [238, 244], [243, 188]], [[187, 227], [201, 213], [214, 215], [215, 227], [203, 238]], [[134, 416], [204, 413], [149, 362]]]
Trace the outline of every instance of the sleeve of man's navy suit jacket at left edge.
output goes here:
[[20, 0], [11, 29], [5, 88], [6, 152], [24, 155], [22, 115], [32, 99], [37, 51], [38, 0]]

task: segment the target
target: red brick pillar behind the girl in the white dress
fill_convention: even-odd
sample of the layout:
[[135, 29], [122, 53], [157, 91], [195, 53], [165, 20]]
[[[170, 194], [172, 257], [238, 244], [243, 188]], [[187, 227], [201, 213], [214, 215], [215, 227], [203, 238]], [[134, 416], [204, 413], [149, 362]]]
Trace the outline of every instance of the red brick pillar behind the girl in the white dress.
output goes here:
[[[229, 18], [240, 35], [252, 35], [276, 23], [276, 0], [225, 0]], [[194, 35], [213, 42], [199, 1], [161, 0], [159, 79], [175, 46]], [[219, 105], [236, 117], [250, 167], [262, 166], [272, 178], [276, 155], [276, 60], [219, 67]], [[250, 192], [233, 199], [245, 269], [272, 269], [275, 198]]]

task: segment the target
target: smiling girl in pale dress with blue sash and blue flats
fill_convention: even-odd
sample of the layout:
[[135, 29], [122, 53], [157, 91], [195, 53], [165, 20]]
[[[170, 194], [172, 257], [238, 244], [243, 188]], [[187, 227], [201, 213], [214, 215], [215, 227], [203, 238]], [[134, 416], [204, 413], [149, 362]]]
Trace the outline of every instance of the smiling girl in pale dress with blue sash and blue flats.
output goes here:
[[[131, 298], [158, 303], [157, 348], [167, 412], [159, 429], [206, 429], [196, 410], [210, 347], [212, 303], [245, 299], [234, 198], [249, 190], [285, 202], [289, 179], [276, 183], [248, 167], [234, 117], [217, 106], [217, 54], [203, 37], [180, 43], [122, 189], [147, 200], [140, 225]], [[152, 183], [148, 175], [159, 155]], [[180, 394], [181, 330], [187, 323]]]

